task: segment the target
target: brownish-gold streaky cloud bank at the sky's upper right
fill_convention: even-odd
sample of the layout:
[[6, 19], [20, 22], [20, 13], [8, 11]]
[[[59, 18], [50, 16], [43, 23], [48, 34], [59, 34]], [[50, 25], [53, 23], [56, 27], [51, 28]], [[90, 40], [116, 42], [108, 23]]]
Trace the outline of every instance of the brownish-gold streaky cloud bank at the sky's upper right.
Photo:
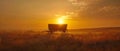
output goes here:
[[78, 16], [119, 18], [120, 0], [69, 0]]

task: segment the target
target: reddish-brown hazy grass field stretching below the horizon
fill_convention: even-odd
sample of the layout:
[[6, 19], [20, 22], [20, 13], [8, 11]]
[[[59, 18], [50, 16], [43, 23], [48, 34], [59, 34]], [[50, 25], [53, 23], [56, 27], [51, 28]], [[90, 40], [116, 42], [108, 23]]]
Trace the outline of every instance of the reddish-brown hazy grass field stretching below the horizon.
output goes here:
[[119, 51], [120, 28], [1, 31], [0, 51]]

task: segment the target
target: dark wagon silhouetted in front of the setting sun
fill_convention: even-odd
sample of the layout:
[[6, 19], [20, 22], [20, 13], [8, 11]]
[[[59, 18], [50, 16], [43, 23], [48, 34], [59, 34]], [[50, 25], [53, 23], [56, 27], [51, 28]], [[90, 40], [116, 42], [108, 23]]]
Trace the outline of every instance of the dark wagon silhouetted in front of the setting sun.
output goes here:
[[48, 29], [50, 33], [60, 31], [60, 32], [66, 32], [67, 30], [67, 24], [48, 24]]

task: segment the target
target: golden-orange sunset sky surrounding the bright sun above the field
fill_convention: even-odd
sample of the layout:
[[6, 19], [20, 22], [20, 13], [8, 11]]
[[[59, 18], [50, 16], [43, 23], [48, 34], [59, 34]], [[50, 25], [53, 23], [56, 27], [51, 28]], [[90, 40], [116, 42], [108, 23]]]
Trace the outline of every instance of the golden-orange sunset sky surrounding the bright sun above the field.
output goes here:
[[0, 0], [0, 30], [44, 30], [56, 15], [69, 29], [120, 27], [120, 0]]

